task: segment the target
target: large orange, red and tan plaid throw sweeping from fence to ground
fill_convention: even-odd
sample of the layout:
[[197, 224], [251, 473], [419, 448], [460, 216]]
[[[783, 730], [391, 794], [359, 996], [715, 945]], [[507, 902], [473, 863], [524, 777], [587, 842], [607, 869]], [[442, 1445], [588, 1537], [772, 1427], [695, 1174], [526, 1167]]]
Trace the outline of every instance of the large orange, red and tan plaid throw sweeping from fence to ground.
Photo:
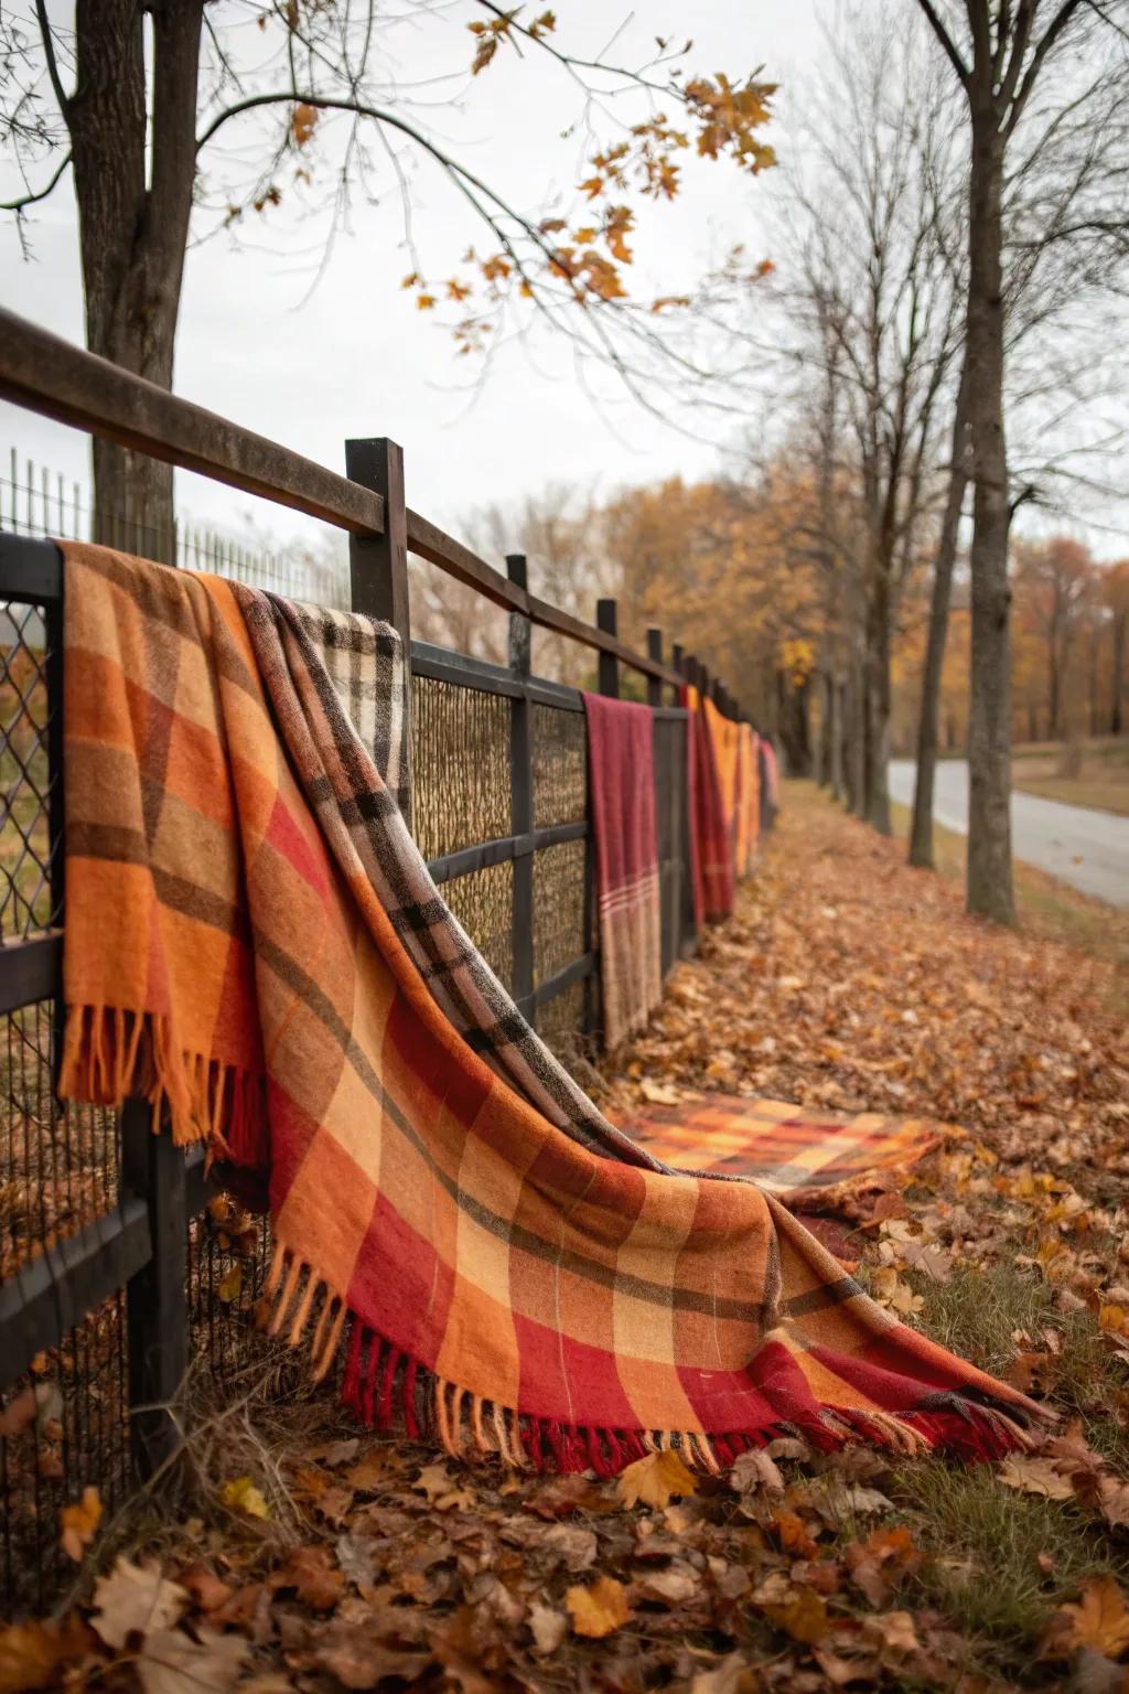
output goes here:
[[[394, 796], [308, 617], [68, 551], [64, 1094], [144, 1093], [178, 1142], [266, 1169], [274, 1330], [317, 1376], [344, 1357], [361, 1418], [450, 1453], [1022, 1445], [1038, 1408], [873, 1304], [770, 1193], [586, 1145], [499, 1074], [489, 1008], [496, 1067], [455, 1028], [425, 979], [450, 962], [408, 947], [454, 932], [381, 883]], [[391, 639], [347, 628], [369, 657]]]

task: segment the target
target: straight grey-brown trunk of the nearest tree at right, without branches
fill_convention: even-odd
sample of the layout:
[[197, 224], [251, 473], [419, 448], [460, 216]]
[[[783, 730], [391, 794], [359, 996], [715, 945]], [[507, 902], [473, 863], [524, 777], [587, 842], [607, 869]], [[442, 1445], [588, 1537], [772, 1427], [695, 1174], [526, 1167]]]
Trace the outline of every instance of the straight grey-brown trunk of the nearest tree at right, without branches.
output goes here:
[[1011, 847], [1007, 447], [1004, 437], [1004, 141], [992, 71], [972, 93], [968, 383], [973, 440], [968, 911], [1016, 922]]

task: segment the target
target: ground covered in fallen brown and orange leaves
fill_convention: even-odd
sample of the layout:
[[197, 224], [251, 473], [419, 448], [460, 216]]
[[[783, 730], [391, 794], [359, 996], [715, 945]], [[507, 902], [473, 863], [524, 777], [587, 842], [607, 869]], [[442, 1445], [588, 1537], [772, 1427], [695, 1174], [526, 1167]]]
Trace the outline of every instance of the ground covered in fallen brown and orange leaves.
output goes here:
[[789, 800], [604, 1103], [721, 1089], [963, 1125], [853, 1206], [841, 1250], [1049, 1401], [1044, 1448], [961, 1469], [782, 1438], [723, 1479], [674, 1453], [606, 1482], [462, 1470], [266, 1360], [171, 1496], [113, 1525], [96, 1496], [69, 1509], [74, 1604], [0, 1630], [0, 1694], [1129, 1689], [1124, 984], [972, 923], [894, 844]]

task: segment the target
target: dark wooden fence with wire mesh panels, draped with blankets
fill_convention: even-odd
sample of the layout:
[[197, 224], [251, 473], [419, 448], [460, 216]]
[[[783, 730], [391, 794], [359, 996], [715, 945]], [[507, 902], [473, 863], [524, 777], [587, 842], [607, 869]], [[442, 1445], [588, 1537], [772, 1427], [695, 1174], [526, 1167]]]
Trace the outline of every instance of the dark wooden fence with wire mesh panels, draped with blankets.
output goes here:
[[[598, 688], [643, 674], [652, 706], [664, 972], [694, 944], [684, 679], [723, 684], [662, 635], [625, 647], [616, 605], [589, 625], [537, 598], [521, 556], [496, 571], [405, 503], [386, 439], [345, 444], [347, 476], [0, 312], [0, 395], [349, 532], [352, 606], [411, 656], [410, 805], [432, 876], [565, 1059], [596, 1038], [598, 950], [582, 700], [531, 674], [533, 627], [598, 656]], [[61, 523], [61, 529], [66, 525]], [[509, 613], [506, 666], [411, 640], [408, 554]], [[191, 562], [191, 561], [190, 561]], [[237, 561], [229, 561], [235, 564]], [[254, 578], [252, 578], [254, 579]], [[151, 1133], [149, 1106], [63, 1104], [63, 556], [0, 532], [0, 1592], [41, 1606], [58, 1509], [85, 1486], [113, 1504], [176, 1448], [190, 1359], [223, 1374], [254, 1342], [267, 1226], [205, 1179], [203, 1154]]]

